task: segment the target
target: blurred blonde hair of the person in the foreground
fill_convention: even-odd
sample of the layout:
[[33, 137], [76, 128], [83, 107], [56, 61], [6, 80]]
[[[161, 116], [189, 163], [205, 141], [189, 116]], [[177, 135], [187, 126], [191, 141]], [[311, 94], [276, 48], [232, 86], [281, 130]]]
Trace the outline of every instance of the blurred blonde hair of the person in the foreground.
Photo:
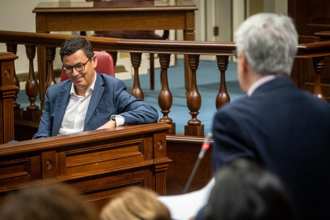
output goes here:
[[101, 220], [170, 220], [166, 206], [148, 189], [130, 188], [106, 204]]

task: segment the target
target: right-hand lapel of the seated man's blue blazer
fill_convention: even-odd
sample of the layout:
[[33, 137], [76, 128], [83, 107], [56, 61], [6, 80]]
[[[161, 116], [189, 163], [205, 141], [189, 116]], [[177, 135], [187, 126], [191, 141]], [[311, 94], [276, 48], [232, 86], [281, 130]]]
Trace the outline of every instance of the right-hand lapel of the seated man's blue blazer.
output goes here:
[[88, 105], [88, 109], [87, 109], [87, 113], [86, 113], [86, 117], [85, 117], [85, 122], [84, 122], [84, 130], [86, 128], [87, 123], [89, 122], [89, 119], [92, 117], [96, 106], [99, 104], [102, 94], [104, 92], [104, 81], [102, 79], [102, 77], [96, 73], [96, 81], [95, 81], [95, 85], [94, 85], [94, 90], [93, 90], [93, 94], [92, 97], [90, 98], [90, 102]]

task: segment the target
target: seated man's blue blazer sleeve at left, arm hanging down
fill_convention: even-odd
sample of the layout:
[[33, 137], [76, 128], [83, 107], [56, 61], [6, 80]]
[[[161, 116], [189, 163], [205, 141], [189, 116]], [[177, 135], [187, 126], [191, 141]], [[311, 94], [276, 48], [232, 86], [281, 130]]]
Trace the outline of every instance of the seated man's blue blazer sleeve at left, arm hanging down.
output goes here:
[[53, 122], [50, 118], [50, 103], [49, 103], [49, 94], [47, 89], [45, 95], [45, 106], [41, 116], [38, 132], [33, 135], [32, 139], [50, 137], [52, 126], [53, 126]]

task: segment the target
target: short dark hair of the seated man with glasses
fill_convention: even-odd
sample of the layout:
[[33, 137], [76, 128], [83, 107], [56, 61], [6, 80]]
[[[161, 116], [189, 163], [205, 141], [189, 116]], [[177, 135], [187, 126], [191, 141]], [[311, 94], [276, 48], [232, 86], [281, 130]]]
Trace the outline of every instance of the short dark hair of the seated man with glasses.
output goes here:
[[71, 55], [76, 51], [82, 50], [87, 58], [94, 56], [94, 51], [91, 43], [82, 36], [72, 37], [64, 41], [60, 49], [60, 56], [63, 62], [63, 56]]

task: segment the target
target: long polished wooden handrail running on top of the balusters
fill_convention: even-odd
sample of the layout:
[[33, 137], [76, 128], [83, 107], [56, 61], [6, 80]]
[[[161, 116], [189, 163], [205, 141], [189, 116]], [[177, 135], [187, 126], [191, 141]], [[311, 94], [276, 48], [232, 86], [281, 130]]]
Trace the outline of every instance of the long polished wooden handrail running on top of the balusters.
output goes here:
[[[64, 40], [76, 35], [20, 31], [0, 31], [0, 43], [61, 47]], [[95, 50], [136, 53], [234, 55], [235, 42], [135, 40], [108, 37], [89, 37]], [[299, 44], [296, 57], [330, 55], [330, 41]]]

